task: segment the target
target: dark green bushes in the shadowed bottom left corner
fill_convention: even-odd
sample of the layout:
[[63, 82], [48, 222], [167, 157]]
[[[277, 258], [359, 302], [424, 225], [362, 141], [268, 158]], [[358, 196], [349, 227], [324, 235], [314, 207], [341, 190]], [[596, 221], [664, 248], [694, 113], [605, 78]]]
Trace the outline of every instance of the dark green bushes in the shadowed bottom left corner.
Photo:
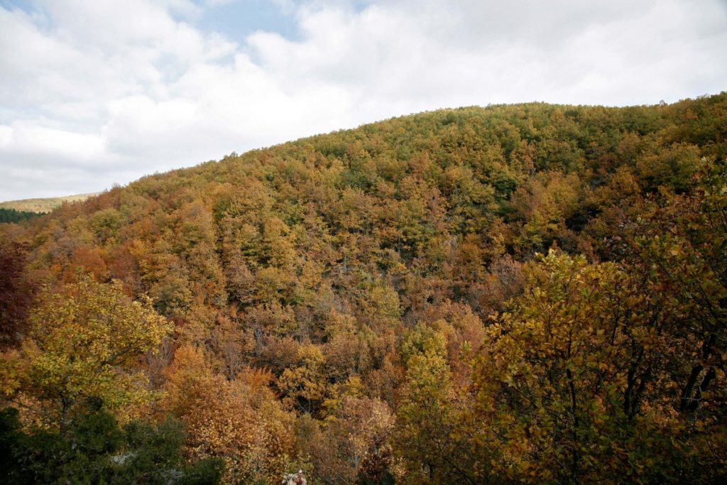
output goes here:
[[0, 411], [2, 484], [215, 484], [222, 463], [182, 460], [182, 425], [130, 422], [108, 412], [76, 415], [67, 432], [23, 430], [15, 408]]

